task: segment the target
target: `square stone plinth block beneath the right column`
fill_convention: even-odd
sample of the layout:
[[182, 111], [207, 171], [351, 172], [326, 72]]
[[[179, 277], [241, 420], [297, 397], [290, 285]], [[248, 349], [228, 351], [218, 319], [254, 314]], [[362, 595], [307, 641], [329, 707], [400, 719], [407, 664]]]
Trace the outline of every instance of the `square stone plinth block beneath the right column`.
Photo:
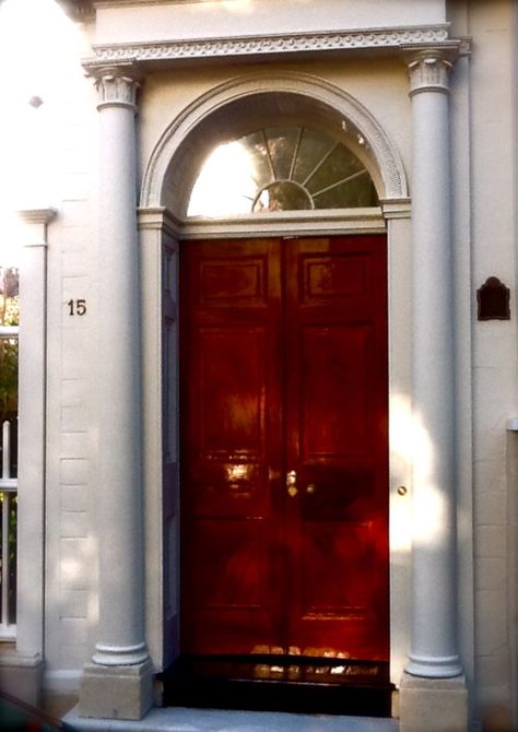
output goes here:
[[399, 692], [400, 732], [467, 732], [464, 676], [424, 678], [403, 673]]

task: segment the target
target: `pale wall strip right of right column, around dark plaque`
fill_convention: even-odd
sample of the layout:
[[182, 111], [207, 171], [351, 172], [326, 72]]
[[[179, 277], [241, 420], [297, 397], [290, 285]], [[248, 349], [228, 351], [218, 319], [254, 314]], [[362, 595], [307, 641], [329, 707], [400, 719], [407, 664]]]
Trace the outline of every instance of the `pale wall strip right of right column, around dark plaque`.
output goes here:
[[[478, 698], [509, 706], [506, 420], [517, 414], [516, 203], [513, 2], [475, 3], [471, 58], [473, 475]], [[488, 276], [510, 288], [511, 320], [479, 322], [475, 291]]]

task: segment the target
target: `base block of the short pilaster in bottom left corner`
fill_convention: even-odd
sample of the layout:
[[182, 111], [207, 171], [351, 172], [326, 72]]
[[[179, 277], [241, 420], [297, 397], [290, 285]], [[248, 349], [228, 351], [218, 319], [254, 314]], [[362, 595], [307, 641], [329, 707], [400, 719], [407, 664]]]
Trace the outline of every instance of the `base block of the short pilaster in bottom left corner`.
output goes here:
[[33, 707], [38, 707], [42, 703], [44, 665], [39, 653], [25, 656], [15, 649], [2, 650], [0, 688]]

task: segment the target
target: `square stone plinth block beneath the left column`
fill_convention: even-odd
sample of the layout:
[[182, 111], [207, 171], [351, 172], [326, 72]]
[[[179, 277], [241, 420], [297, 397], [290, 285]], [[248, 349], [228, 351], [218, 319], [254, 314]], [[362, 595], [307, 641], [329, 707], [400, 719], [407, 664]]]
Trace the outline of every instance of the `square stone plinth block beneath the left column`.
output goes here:
[[151, 661], [107, 666], [87, 663], [79, 692], [80, 717], [141, 719], [153, 706]]

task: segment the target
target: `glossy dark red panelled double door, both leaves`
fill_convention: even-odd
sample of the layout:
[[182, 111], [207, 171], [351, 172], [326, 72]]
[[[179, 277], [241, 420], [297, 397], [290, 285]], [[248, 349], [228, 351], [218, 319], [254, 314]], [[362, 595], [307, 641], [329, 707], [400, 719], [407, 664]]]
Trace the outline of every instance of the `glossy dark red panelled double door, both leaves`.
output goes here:
[[184, 652], [388, 658], [386, 256], [183, 246]]

